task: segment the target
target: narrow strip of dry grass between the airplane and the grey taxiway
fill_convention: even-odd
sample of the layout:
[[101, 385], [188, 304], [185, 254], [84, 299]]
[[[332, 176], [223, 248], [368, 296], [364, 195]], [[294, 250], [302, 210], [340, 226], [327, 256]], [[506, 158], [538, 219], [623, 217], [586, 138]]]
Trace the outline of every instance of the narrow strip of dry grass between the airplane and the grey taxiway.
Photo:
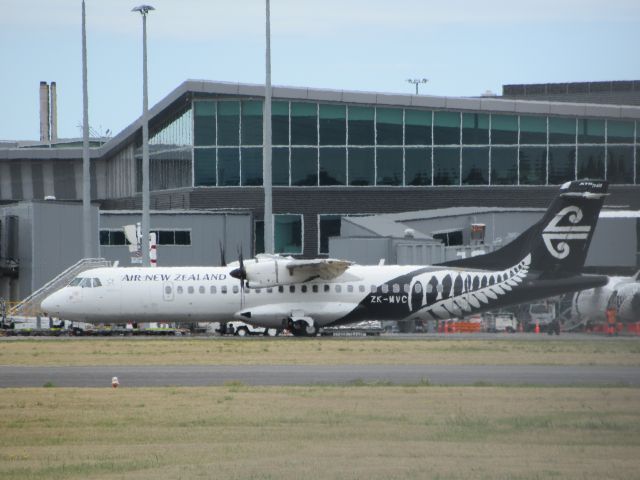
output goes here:
[[640, 339], [15, 339], [0, 365], [640, 365]]

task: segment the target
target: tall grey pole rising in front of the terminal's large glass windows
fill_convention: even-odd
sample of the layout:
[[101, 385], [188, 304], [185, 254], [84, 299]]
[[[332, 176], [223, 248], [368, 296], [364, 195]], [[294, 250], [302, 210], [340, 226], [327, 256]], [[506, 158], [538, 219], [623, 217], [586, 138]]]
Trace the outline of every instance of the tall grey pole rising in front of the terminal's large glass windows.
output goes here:
[[273, 194], [271, 188], [271, 14], [269, 8], [269, 0], [266, 0], [266, 49], [262, 135], [262, 186], [264, 188], [264, 252], [274, 253]]

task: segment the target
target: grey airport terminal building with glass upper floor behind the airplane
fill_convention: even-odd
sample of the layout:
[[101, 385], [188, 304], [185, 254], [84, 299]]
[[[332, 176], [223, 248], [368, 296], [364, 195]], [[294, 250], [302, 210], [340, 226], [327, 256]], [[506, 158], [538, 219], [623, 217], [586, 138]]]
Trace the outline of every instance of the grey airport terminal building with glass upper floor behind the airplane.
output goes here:
[[[505, 233], [499, 238], [506, 241], [523, 230], [518, 212], [534, 212], [527, 214], [533, 222], [558, 185], [590, 178], [609, 181], [606, 206], [620, 212], [600, 235], [625, 240], [614, 260], [605, 251], [610, 242], [594, 241], [602, 255], [590, 255], [592, 265], [605, 273], [630, 273], [640, 265], [640, 81], [506, 85], [502, 96], [472, 98], [274, 87], [272, 98], [277, 253], [322, 257], [334, 255], [335, 245], [348, 257], [357, 241], [349, 247], [329, 240], [342, 235], [343, 220], [351, 222], [345, 232], [361, 234], [367, 221], [360, 216], [418, 211], [431, 221], [402, 224], [391, 236], [400, 238], [397, 232], [409, 228], [413, 243], [468, 246], [471, 224], [485, 225], [486, 237], [498, 215]], [[160, 264], [216, 264], [223, 251], [233, 259], [240, 245], [245, 256], [263, 250], [263, 100], [261, 85], [186, 81], [150, 110], [151, 229], [174, 231], [165, 252], [193, 250], [163, 259], [161, 242]], [[82, 198], [81, 142], [56, 139], [53, 116], [41, 124], [40, 142], [0, 142], [0, 296], [22, 298], [41, 282], [16, 280], [34, 267], [30, 249], [16, 253], [15, 239], [37, 230], [13, 218], [28, 211], [16, 204], [49, 199], [61, 207], [52, 214], [64, 216], [65, 205], [77, 207]], [[128, 258], [126, 242], [112, 232], [120, 218], [130, 223], [141, 208], [141, 129], [137, 119], [113, 137], [92, 139], [94, 251], [121, 264]], [[434, 227], [441, 209], [454, 209], [448, 212], [457, 223]], [[199, 228], [204, 217], [198, 212], [240, 220]], [[18, 227], [20, 233], [13, 231]], [[188, 232], [188, 245], [175, 244], [178, 230], [179, 242]], [[71, 231], [42, 232], [49, 239], [62, 236], [58, 263], [79, 259], [82, 249], [64, 249]], [[51, 261], [43, 276], [59, 267]]]

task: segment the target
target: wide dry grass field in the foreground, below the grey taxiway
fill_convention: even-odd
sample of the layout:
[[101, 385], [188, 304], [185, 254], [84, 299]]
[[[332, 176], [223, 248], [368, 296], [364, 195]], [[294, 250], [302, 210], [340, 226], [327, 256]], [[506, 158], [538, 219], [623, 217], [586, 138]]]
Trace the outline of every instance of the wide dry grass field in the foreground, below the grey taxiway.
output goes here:
[[638, 478], [640, 391], [0, 390], [0, 478]]

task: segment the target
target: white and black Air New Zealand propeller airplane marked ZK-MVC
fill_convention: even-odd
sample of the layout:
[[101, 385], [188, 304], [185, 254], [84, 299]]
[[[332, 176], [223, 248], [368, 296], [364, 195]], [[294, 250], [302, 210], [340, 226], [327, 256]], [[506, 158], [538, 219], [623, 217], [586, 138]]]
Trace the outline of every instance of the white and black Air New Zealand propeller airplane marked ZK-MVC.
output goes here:
[[601, 287], [581, 275], [603, 181], [574, 181], [542, 220], [495, 252], [437, 266], [360, 266], [258, 255], [227, 267], [97, 268], [47, 297], [42, 310], [89, 323], [232, 318], [314, 335], [361, 320], [447, 319]]

